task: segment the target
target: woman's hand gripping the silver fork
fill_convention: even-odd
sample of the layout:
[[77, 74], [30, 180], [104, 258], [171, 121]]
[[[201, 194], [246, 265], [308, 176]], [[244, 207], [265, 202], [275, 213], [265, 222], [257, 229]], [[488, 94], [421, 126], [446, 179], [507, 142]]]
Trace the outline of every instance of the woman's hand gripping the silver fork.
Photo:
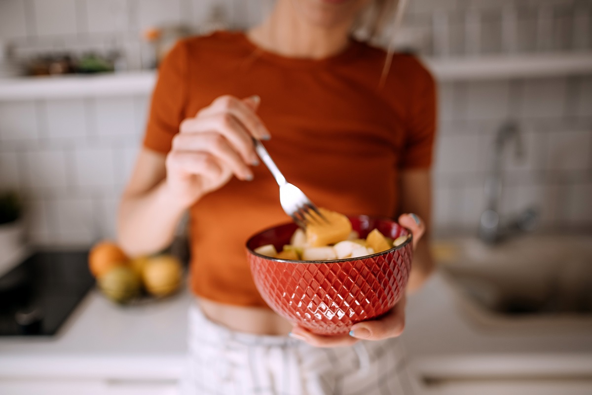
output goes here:
[[249, 166], [258, 165], [252, 137], [271, 136], [255, 113], [259, 97], [221, 96], [186, 118], [166, 156], [166, 185], [186, 207], [226, 184], [234, 175], [253, 179]]

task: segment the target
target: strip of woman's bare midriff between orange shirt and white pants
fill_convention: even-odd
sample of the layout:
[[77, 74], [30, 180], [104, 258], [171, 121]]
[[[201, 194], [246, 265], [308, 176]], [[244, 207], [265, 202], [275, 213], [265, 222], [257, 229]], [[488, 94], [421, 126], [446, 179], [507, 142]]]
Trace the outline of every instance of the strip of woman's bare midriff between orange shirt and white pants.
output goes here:
[[261, 307], [231, 306], [197, 298], [208, 319], [237, 332], [254, 335], [287, 335], [292, 325], [274, 311]]

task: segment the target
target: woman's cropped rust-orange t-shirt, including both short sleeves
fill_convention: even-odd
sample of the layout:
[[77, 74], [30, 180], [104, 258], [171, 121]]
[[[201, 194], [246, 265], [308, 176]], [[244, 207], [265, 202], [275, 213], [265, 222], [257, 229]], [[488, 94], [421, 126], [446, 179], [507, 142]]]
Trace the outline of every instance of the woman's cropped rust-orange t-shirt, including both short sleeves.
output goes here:
[[[259, 49], [243, 33], [179, 41], [163, 60], [144, 146], [166, 154], [184, 118], [221, 95], [259, 95], [265, 142], [279, 169], [320, 207], [393, 217], [398, 174], [429, 168], [436, 124], [435, 83], [413, 56], [352, 40], [327, 59], [293, 59]], [[289, 221], [264, 165], [191, 208], [191, 288], [221, 303], [266, 306], [246, 260], [253, 233]]]

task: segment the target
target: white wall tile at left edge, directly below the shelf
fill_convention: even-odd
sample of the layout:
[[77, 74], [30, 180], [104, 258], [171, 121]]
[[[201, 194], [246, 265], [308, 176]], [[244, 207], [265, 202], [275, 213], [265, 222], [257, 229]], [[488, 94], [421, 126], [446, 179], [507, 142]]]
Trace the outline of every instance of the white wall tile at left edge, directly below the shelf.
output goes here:
[[0, 142], [37, 140], [39, 129], [35, 102], [0, 102]]

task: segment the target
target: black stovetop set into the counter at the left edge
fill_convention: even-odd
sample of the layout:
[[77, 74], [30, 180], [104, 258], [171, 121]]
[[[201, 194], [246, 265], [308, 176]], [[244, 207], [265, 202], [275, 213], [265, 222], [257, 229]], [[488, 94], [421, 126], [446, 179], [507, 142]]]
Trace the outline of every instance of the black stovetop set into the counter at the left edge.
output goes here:
[[88, 251], [38, 251], [0, 277], [0, 336], [55, 335], [94, 284]]

